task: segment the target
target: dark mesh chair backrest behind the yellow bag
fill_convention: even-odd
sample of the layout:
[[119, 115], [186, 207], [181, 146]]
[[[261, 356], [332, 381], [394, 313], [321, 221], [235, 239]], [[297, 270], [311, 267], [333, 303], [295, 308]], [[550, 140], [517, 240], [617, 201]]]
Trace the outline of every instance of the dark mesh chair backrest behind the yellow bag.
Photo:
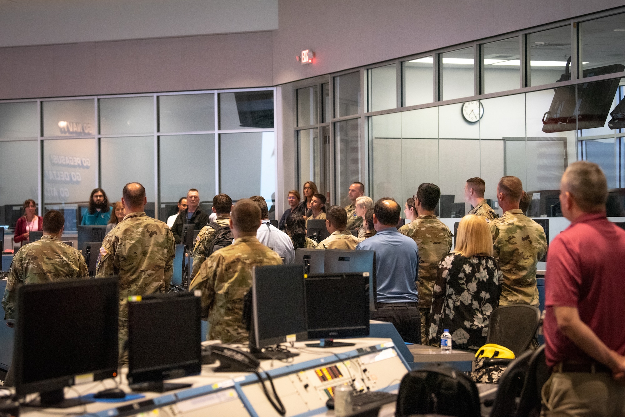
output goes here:
[[505, 346], [518, 358], [536, 336], [540, 319], [540, 310], [532, 305], [497, 307], [491, 313], [486, 343]]

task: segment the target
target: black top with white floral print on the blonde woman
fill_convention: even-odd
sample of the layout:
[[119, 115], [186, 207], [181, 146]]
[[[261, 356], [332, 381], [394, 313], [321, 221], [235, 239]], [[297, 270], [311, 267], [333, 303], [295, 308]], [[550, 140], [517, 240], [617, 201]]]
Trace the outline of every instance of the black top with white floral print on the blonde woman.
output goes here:
[[450, 253], [439, 263], [432, 292], [429, 340], [439, 346], [449, 329], [453, 348], [477, 351], [486, 344], [492, 310], [499, 305], [501, 270], [492, 257]]

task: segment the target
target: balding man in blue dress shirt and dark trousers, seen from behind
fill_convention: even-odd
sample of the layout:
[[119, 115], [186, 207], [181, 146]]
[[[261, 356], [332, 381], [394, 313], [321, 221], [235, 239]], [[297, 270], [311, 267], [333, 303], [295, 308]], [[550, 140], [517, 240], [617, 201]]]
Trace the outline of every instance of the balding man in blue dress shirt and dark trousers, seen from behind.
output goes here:
[[397, 230], [401, 207], [394, 199], [377, 200], [373, 208], [376, 234], [356, 249], [376, 251], [377, 311], [372, 320], [393, 323], [404, 341], [421, 344], [421, 316], [417, 295], [419, 249]]

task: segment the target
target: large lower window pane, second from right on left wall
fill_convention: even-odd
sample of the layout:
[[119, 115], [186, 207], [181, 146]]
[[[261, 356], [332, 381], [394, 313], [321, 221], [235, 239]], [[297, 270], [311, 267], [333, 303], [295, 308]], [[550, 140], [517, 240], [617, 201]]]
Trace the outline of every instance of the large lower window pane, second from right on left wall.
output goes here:
[[[199, 191], [202, 202], [212, 201], [216, 194], [214, 135], [161, 136], [159, 140], [161, 209], [164, 204], [178, 204], [192, 188]], [[161, 219], [167, 217], [167, 210], [161, 211]]]

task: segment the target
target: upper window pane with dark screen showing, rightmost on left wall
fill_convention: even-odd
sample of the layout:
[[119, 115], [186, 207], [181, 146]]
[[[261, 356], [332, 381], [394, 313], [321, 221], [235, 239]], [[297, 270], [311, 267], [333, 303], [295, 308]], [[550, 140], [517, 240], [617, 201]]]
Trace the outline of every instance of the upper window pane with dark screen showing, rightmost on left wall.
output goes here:
[[273, 91], [219, 94], [219, 129], [271, 129]]

